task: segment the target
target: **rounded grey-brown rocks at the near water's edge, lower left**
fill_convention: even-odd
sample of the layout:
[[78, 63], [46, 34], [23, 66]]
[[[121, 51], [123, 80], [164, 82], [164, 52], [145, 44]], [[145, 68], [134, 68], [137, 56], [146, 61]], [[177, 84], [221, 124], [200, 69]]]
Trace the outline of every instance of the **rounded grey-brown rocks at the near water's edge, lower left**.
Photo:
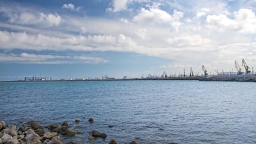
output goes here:
[[[77, 118], [76, 122], [80, 122]], [[93, 123], [93, 118], [88, 120], [89, 123]], [[111, 125], [109, 125], [111, 127]], [[65, 144], [61, 142], [61, 136], [65, 135], [67, 138], [75, 136], [81, 132], [70, 131], [68, 122], [63, 122], [61, 125], [52, 124], [42, 126], [35, 120], [31, 120], [26, 124], [17, 128], [17, 125], [6, 124], [6, 122], [0, 122], [0, 144]], [[97, 130], [89, 132], [92, 134], [88, 140], [93, 141], [95, 137], [106, 138], [107, 134]], [[116, 144], [117, 141], [112, 139], [109, 144]], [[69, 141], [66, 144], [86, 144], [76, 143], [76, 141]], [[131, 141], [130, 144], [136, 144], [136, 141]]]

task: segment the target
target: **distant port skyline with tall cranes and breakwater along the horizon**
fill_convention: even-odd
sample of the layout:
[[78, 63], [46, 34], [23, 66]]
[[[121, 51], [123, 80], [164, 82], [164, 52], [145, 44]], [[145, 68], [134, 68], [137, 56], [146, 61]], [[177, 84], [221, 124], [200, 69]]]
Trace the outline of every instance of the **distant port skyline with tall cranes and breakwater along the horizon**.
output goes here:
[[235, 61], [235, 68], [236, 72], [218, 72], [216, 70], [216, 74], [212, 75], [207, 72], [207, 68], [205, 68], [204, 65], [202, 65], [202, 74], [199, 75], [199, 73], [195, 74], [193, 72], [192, 67], [190, 67], [189, 74], [186, 74], [185, 68], [184, 71], [177, 75], [176, 74], [168, 74], [164, 71], [163, 74], [157, 76], [156, 74], [148, 74], [147, 76], [141, 76], [138, 78], [128, 78], [127, 76], [124, 76], [122, 79], [116, 79], [114, 77], [108, 77], [107, 75], [102, 77], [94, 77], [94, 78], [79, 78], [79, 79], [71, 79], [71, 76], [69, 79], [52, 79], [51, 77], [25, 77], [24, 80], [21, 81], [126, 81], [126, 80], [198, 80], [198, 81], [252, 81], [256, 82], [256, 74], [253, 73], [250, 70], [250, 67], [246, 64], [245, 60], [242, 60], [241, 67], [244, 67], [245, 72], [242, 72], [242, 68], [239, 66], [237, 61]]

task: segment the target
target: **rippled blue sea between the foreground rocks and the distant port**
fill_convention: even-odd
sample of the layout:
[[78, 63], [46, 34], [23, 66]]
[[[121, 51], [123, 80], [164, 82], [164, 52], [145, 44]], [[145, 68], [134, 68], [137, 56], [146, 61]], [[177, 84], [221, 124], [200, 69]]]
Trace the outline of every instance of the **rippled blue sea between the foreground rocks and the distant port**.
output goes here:
[[[255, 88], [168, 80], [1, 82], [0, 121], [17, 128], [30, 120], [67, 121], [70, 131], [82, 133], [61, 136], [63, 143], [250, 144], [256, 143]], [[93, 130], [108, 136], [90, 141]]]

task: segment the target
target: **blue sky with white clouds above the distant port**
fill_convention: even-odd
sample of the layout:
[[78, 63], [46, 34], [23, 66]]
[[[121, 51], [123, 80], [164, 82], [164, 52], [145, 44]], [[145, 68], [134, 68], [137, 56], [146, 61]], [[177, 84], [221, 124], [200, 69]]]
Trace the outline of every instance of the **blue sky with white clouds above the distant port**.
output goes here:
[[256, 66], [255, 0], [0, 0], [0, 81]]

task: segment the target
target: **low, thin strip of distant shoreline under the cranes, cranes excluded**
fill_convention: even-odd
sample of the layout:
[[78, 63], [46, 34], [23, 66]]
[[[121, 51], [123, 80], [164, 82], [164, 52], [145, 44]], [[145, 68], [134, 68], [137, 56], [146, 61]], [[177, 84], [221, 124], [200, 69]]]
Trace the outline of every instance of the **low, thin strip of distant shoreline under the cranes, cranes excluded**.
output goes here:
[[[256, 75], [216, 75], [216, 76], [186, 76], [186, 77], [150, 77], [131, 79], [54, 79], [44, 81], [141, 81], [141, 80], [185, 80], [185, 81], [239, 81], [256, 82]], [[17, 80], [0, 82], [41, 82], [40, 80]]]

